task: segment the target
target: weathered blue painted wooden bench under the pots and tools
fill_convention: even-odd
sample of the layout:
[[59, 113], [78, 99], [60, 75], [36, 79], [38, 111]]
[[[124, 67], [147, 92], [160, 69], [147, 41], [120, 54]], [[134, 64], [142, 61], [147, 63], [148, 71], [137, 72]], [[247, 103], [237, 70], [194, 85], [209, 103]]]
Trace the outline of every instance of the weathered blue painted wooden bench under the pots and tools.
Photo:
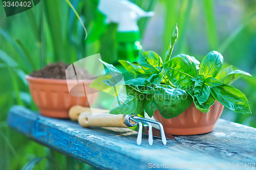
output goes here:
[[[100, 169], [252, 169], [256, 162], [256, 129], [219, 119], [213, 132], [176, 136], [163, 145], [126, 128], [82, 128], [67, 119], [39, 115], [13, 106], [8, 124], [41, 144]], [[241, 166], [247, 166], [247, 168]], [[233, 168], [232, 168], [233, 167]]]

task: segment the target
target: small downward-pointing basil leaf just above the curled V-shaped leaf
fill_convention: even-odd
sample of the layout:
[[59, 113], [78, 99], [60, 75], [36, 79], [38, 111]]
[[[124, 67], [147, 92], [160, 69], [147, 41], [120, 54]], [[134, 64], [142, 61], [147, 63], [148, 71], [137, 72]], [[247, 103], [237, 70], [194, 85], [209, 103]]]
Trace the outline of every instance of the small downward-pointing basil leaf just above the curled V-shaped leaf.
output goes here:
[[207, 99], [209, 98], [210, 88], [204, 84], [196, 82], [194, 86], [194, 91], [195, 91], [197, 100], [200, 104], [206, 102]]

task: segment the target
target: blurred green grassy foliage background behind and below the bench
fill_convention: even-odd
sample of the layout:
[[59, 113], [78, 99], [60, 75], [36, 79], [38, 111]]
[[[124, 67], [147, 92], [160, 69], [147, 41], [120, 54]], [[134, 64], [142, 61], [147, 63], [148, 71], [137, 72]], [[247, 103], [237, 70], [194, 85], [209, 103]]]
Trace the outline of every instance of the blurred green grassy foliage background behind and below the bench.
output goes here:
[[[247, 96], [252, 114], [225, 109], [222, 118], [256, 127], [256, 1], [132, 2], [145, 11], [156, 12], [154, 17], [138, 22], [143, 51], [152, 50], [163, 56], [177, 22], [179, 37], [173, 55], [184, 53], [201, 61], [209, 51], [216, 50], [222, 53], [226, 64], [253, 76], [244, 76], [233, 84]], [[83, 28], [64, 0], [41, 1], [34, 8], [10, 17], [6, 17], [4, 8], [0, 7], [0, 169], [21, 169], [37, 157], [44, 159], [34, 169], [91, 168], [42, 147], [11, 130], [6, 123], [8, 110], [13, 105], [37, 110], [24, 79], [32, 70], [60, 60], [72, 63], [97, 53], [103, 60], [116, 58], [117, 25], [99, 25], [98, 1], [73, 0], [71, 3], [84, 21], [90, 41], [84, 40]], [[95, 29], [103, 35], [92, 34]]]

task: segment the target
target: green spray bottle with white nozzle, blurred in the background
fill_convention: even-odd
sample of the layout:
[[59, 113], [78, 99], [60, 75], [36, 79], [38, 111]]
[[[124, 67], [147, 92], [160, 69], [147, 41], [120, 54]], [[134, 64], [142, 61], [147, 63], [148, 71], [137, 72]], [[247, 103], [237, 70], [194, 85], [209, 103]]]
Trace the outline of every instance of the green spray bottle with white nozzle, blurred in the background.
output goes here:
[[[119, 64], [118, 60], [137, 62], [139, 51], [142, 50], [137, 21], [141, 17], [151, 17], [155, 13], [145, 12], [137, 5], [127, 0], [100, 0], [98, 11], [103, 14], [105, 18], [103, 21], [104, 26], [101, 28], [97, 26], [98, 32], [96, 34], [104, 34], [103, 29], [111, 22], [117, 23], [118, 25], [116, 32], [117, 58], [110, 60], [111, 56], [108, 56], [108, 62], [115, 65]], [[102, 21], [102, 18], [100, 21]], [[101, 31], [99, 31], [99, 29], [101, 29]]]

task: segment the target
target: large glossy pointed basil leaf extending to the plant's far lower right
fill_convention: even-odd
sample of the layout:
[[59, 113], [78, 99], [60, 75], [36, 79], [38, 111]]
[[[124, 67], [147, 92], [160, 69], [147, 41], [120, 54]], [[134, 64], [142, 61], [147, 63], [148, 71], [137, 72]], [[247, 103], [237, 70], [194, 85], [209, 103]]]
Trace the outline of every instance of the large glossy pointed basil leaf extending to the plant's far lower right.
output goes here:
[[230, 110], [238, 113], [251, 113], [246, 96], [232, 86], [223, 84], [221, 86], [211, 87], [211, 94], [217, 101]]

